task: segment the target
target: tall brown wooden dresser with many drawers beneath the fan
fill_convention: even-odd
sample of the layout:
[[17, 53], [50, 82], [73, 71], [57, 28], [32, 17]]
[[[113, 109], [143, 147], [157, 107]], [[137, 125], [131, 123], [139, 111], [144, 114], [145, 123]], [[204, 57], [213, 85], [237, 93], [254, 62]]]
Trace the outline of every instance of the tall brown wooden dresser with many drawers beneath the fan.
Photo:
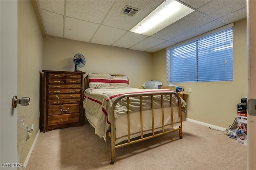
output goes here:
[[42, 131], [83, 125], [85, 72], [43, 70]]

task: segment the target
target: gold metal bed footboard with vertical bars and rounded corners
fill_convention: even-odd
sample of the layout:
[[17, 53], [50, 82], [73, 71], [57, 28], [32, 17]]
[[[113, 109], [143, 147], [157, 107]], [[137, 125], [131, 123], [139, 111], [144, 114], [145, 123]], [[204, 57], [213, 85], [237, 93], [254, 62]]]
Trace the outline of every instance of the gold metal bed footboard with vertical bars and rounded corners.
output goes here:
[[[166, 130], [165, 129], [165, 125], [164, 125], [164, 102], [163, 102], [163, 95], [170, 95], [170, 107], [171, 107], [171, 111], [170, 111], [170, 116], [171, 116], [171, 130]], [[180, 117], [180, 126], [176, 129], [174, 129], [174, 122], [173, 122], [173, 106], [172, 106], [172, 96], [176, 96], [178, 98], [178, 108], [179, 108], [179, 117]], [[144, 137], [143, 135], [143, 119], [142, 119], [142, 97], [143, 96], [151, 96], [151, 113], [152, 113], [152, 134], [150, 136], [146, 136]], [[161, 108], [162, 108], [162, 131], [160, 133], [155, 134], [155, 129], [154, 129], [154, 107], [153, 107], [153, 96], [161, 96]], [[140, 129], [141, 129], [141, 135], [140, 135], [140, 139], [136, 139], [136, 140], [132, 140], [130, 139], [130, 98], [131, 97], [140, 97]], [[116, 135], [115, 135], [115, 107], [116, 104], [122, 99], [122, 98], [127, 98], [127, 117], [128, 117], [128, 123], [127, 123], [127, 127], [128, 127], [128, 141], [126, 143], [122, 143], [122, 144], [115, 144], [116, 143]], [[176, 93], [176, 92], [156, 92], [154, 94], [152, 93], [145, 93], [145, 94], [124, 94], [122, 96], [119, 96], [114, 103], [112, 104], [111, 107], [111, 162], [110, 164], [114, 164], [115, 162], [115, 149], [116, 148], [120, 148], [126, 145], [130, 145], [133, 143], [137, 143], [140, 141], [144, 141], [147, 139], [151, 139], [153, 137], [157, 137], [160, 135], [164, 135], [166, 133], [170, 133], [170, 132], [174, 132], [174, 131], [179, 131], [180, 132], [180, 139], [182, 139], [182, 116], [181, 116], [181, 100], [180, 100], [180, 96]], [[118, 127], [117, 127], [118, 128]]]

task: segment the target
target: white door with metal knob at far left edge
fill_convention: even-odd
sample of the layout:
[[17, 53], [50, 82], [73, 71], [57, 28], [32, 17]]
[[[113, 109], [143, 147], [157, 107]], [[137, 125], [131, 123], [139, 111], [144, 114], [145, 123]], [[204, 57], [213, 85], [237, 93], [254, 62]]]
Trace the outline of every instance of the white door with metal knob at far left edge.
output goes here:
[[[17, 1], [0, 0], [0, 169], [16, 169], [17, 107], [12, 97], [17, 95]], [[19, 96], [18, 96], [19, 97]], [[16, 164], [15, 164], [16, 163]]]

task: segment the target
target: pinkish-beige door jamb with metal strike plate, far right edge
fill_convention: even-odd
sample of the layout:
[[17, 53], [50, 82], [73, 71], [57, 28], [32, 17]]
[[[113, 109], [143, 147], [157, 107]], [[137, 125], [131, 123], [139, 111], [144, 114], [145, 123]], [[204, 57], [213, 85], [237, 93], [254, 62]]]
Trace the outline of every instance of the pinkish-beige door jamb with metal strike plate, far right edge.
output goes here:
[[[247, 0], [247, 33], [248, 33], [248, 99], [256, 99], [256, 1]], [[255, 104], [251, 105], [255, 111]], [[248, 110], [248, 108], [247, 108]], [[256, 114], [248, 115], [247, 169], [256, 168]]]

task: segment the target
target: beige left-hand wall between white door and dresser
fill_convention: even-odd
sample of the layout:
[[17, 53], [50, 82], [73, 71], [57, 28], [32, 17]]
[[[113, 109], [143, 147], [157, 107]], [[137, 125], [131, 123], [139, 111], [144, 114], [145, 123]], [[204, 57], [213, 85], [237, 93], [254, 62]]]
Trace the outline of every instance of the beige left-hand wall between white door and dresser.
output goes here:
[[[28, 127], [30, 139], [24, 141], [20, 162], [24, 163], [39, 130], [39, 87], [42, 70], [43, 38], [30, 1], [18, 1], [18, 98], [30, 97], [30, 105], [18, 107]], [[20, 143], [22, 141], [18, 141]]]

